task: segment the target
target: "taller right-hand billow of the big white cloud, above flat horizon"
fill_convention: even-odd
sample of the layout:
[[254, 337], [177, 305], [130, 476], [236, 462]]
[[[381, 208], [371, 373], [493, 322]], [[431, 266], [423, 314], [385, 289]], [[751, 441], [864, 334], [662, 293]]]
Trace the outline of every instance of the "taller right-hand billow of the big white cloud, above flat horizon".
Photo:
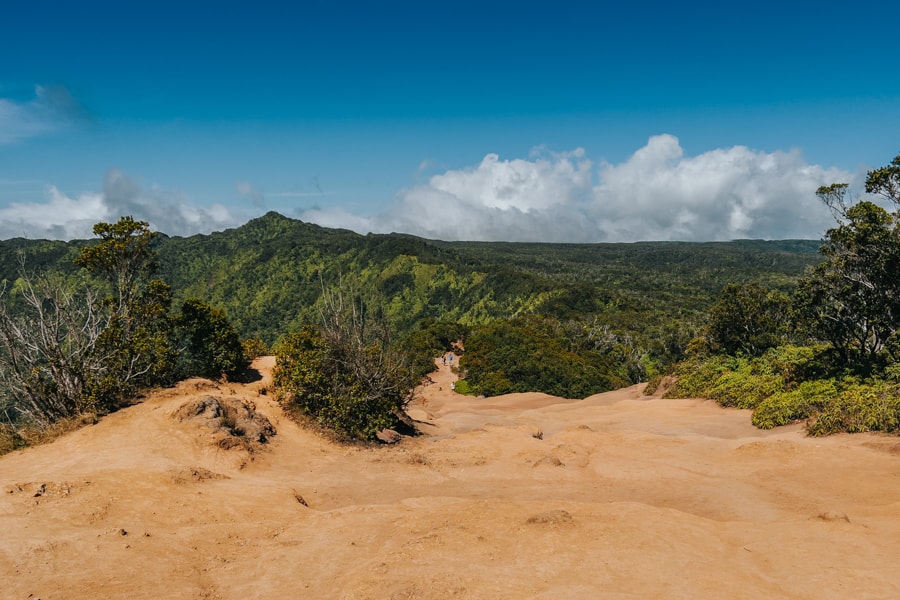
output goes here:
[[614, 241], [818, 238], [833, 222], [816, 189], [853, 177], [797, 151], [735, 146], [685, 157], [670, 135], [598, 176], [590, 212], [598, 237]]

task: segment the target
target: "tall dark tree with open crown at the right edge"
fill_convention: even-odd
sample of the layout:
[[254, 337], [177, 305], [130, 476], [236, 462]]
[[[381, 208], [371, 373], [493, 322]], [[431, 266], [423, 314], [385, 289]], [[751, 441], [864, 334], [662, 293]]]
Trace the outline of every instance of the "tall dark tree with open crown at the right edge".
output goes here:
[[[900, 156], [869, 171], [866, 191], [900, 204]], [[820, 187], [817, 194], [838, 226], [826, 233], [820, 250], [825, 260], [801, 280], [795, 306], [842, 361], [870, 373], [883, 366], [900, 324], [900, 213], [850, 202], [844, 183]]]

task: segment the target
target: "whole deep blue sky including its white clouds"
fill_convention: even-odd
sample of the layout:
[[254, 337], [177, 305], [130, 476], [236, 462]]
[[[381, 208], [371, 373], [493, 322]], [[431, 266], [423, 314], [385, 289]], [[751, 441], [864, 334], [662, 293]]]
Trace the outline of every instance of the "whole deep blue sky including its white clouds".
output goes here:
[[900, 153], [890, 2], [31, 2], [0, 238], [276, 210], [442, 239], [820, 237]]

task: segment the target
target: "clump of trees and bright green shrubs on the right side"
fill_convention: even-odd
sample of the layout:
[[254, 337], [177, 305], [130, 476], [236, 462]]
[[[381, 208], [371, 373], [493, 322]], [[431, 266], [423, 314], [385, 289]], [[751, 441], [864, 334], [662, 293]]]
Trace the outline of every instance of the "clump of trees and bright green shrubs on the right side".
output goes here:
[[[869, 172], [866, 191], [900, 208], [900, 156]], [[802, 420], [812, 435], [900, 430], [900, 211], [852, 203], [843, 183], [818, 194], [837, 221], [824, 260], [791, 297], [726, 286], [669, 397], [752, 409], [762, 428]]]

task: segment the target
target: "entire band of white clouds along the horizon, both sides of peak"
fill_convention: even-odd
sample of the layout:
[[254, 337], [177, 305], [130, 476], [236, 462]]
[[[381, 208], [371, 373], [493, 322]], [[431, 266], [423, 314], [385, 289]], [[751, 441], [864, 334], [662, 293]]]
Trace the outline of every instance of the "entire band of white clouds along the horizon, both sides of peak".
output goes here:
[[[834, 222], [815, 190], [836, 181], [859, 189], [859, 179], [807, 164], [799, 151], [735, 146], [686, 156], [677, 138], [659, 135], [619, 164], [595, 165], [582, 149], [540, 150], [512, 160], [488, 154], [477, 166], [402, 190], [374, 216], [334, 205], [296, 209], [289, 216], [360, 233], [443, 240], [818, 239]], [[237, 183], [236, 191], [247, 206], [197, 207], [177, 190], [141, 189], [112, 170], [101, 192], [72, 197], [50, 187], [46, 202], [0, 208], [0, 239], [89, 238], [94, 223], [121, 215], [149, 221], [169, 235], [192, 235], [234, 227], [265, 212], [265, 193], [246, 181]]]

